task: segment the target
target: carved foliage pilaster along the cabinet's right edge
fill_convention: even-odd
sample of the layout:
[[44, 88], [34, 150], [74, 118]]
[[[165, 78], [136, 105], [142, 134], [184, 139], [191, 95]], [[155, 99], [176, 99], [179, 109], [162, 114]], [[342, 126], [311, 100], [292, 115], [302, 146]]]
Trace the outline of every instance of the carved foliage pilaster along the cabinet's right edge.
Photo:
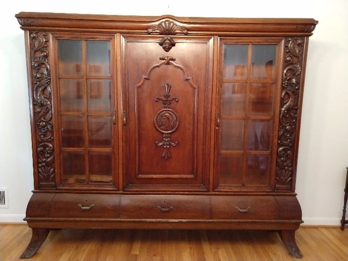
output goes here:
[[278, 129], [276, 190], [292, 189], [304, 44], [304, 37], [286, 38]]

